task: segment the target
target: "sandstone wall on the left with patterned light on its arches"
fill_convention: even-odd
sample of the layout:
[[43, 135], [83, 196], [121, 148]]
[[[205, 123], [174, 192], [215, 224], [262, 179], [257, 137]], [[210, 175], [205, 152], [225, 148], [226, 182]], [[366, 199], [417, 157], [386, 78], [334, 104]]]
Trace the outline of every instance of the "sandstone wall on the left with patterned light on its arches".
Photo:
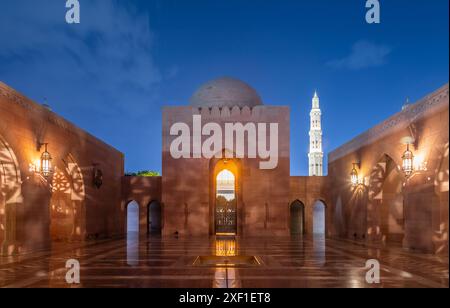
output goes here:
[[[48, 143], [53, 157], [48, 179], [30, 168], [44, 151], [39, 143]], [[0, 162], [2, 253], [123, 232], [123, 154], [3, 83]], [[103, 173], [100, 188], [94, 185], [96, 169]]]

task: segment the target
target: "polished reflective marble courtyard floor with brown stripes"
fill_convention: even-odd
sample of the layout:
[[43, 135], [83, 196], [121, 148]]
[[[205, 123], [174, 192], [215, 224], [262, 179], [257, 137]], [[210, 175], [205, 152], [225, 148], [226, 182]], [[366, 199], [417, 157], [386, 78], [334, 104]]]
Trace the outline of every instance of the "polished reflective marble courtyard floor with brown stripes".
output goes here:
[[[198, 262], [199, 257], [210, 256], [231, 261]], [[250, 258], [239, 263], [235, 256], [255, 258], [246, 264]], [[69, 259], [80, 262], [79, 285], [66, 283]], [[381, 264], [380, 284], [366, 283], [368, 259]], [[449, 286], [448, 265], [448, 256], [323, 237], [138, 239], [130, 235], [84, 245], [55, 244], [50, 251], [0, 258], [0, 287], [440, 288]]]

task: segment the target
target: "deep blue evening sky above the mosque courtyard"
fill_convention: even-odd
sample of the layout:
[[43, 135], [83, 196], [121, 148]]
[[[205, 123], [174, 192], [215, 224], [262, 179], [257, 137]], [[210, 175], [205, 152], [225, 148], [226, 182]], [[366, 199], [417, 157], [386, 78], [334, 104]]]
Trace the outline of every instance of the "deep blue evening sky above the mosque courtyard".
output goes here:
[[318, 89], [329, 153], [448, 82], [448, 0], [0, 1], [0, 80], [126, 155], [161, 170], [161, 108], [204, 82], [246, 81], [291, 107], [292, 175], [307, 174]]

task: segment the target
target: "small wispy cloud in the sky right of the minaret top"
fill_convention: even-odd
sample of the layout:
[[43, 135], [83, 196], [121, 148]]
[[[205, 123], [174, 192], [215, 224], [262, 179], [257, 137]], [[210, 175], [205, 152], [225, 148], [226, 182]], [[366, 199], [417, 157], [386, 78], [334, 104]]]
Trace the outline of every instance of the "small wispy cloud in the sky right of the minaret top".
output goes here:
[[378, 45], [367, 40], [356, 42], [350, 54], [344, 58], [328, 62], [336, 69], [361, 70], [370, 67], [382, 66], [392, 49], [386, 45]]

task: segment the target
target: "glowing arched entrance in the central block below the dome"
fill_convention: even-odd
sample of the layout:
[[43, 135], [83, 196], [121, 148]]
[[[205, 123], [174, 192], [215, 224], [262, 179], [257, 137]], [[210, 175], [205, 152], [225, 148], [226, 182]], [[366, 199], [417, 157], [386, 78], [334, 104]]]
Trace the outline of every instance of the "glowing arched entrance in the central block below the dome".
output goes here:
[[236, 177], [228, 169], [216, 177], [215, 230], [217, 235], [237, 233]]

